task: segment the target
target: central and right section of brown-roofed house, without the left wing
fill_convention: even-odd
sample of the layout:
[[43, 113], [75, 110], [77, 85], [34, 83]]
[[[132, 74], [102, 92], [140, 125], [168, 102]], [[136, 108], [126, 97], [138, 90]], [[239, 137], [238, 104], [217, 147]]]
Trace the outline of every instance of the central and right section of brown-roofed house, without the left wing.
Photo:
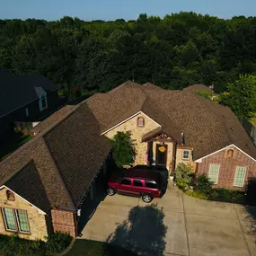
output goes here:
[[102, 135], [131, 131], [135, 164], [163, 164], [172, 175], [179, 163], [189, 163], [215, 187], [243, 190], [256, 176], [255, 146], [232, 110], [195, 93], [211, 89], [190, 87], [170, 91], [127, 82], [86, 102]]

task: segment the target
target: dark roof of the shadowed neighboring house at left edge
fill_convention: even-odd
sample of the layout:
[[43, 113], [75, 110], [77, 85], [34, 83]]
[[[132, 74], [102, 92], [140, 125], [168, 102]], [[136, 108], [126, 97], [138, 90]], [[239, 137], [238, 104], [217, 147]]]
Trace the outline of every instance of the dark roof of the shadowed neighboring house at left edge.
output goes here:
[[39, 90], [57, 90], [41, 75], [15, 75], [0, 69], [0, 117], [39, 99]]

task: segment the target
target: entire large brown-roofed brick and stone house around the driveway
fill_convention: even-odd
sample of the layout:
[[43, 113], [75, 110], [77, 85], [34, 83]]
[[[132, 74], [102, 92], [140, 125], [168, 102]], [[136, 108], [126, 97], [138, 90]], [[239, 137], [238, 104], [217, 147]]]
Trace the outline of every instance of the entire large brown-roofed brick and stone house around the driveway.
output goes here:
[[255, 147], [231, 110], [191, 92], [128, 81], [58, 110], [0, 163], [0, 234], [76, 236], [118, 131], [131, 132], [134, 164], [165, 165], [170, 175], [190, 164], [216, 187], [234, 190], [256, 176]]

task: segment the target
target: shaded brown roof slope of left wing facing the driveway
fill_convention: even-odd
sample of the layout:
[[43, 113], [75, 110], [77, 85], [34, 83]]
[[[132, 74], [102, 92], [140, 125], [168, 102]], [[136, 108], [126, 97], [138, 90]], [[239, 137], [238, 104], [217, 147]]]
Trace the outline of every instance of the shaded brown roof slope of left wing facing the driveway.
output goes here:
[[76, 207], [101, 170], [110, 143], [100, 136], [100, 125], [86, 104], [44, 138]]

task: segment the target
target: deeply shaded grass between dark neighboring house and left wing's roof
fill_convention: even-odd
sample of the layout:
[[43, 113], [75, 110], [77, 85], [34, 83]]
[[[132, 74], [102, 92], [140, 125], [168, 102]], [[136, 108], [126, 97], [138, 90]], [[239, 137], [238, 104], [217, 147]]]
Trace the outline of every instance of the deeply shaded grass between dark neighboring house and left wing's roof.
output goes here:
[[4, 139], [0, 147], [0, 161], [12, 154], [17, 148], [25, 144], [32, 136], [25, 136], [22, 133], [13, 133], [12, 136]]

